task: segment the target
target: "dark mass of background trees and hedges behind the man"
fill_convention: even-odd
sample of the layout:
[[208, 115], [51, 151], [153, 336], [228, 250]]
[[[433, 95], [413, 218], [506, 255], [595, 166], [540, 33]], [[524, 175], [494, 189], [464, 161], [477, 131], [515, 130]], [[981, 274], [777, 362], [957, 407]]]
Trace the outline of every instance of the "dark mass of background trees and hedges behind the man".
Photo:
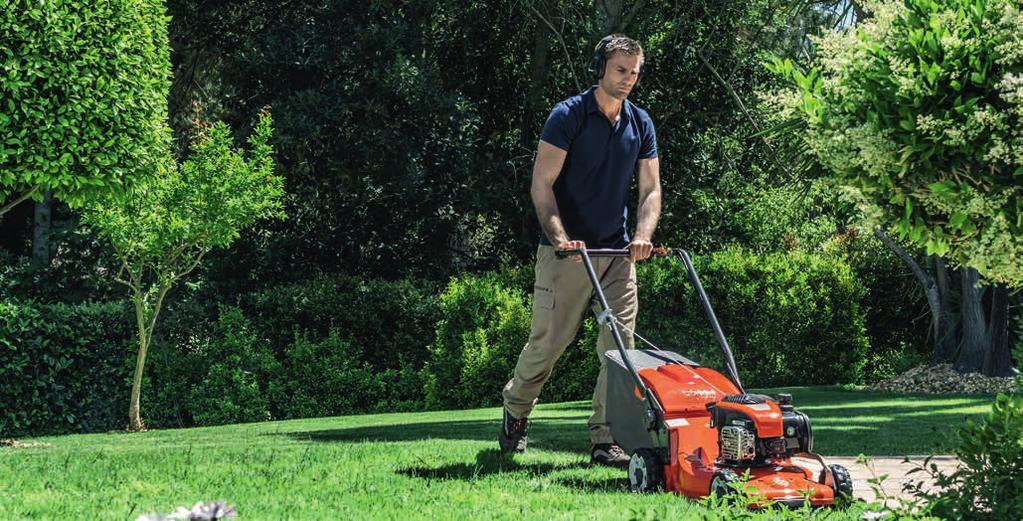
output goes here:
[[[783, 81], [763, 62], [805, 61], [807, 36], [858, 19], [855, 2], [167, 9], [178, 153], [193, 100], [238, 129], [269, 105], [288, 218], [246, 229], [172, 290], [143, 382], [152, 427], [496, 403], [528, 329], [537, 134], [590, 83], [587, 57], [612, 31], [639, 38], [652, 66], [633, 98], [659, 130], [656, 241], [696, 254], [747, 383], [870, 383], [931, 358], [905, 264], [763, 132], [759, 95]], [[32, 382], [0, 385], [3, 435], [122, 427], [133, 334], [117, 261], [77, 211], [50, 206], [45, 233], [31, 203], [0, 221], [0, 374]], [[647, 264], [640, 288], [640, 333], [719, 366], [679, 266]], [[589, 396], [595, 334], [587, 321], [544, 400]]]

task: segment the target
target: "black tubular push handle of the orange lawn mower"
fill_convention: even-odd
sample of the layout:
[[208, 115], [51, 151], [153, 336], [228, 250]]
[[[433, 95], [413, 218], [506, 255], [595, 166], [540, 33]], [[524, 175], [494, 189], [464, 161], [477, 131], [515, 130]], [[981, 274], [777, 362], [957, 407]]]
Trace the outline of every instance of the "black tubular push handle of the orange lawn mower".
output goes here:
[[[721, 331], [721, 324], [717, 320], [717, 315], [714, 314], [714, 308], [710, 305], [710, 299], [707, 298], [707, 292], [704, 291], [703, 284], [700, 283], [700, 275], [697, 274], [697, 270], [693, 267], [693, 259], [690, 258], [690, 253], [681, 248], [655, 248], [652, 254], [653, 257], [668, 257], [671, 254], [677, 256], [682, 264], [685, 266], [685, 272], [690, 277], [690, 284], [697, 291], [697, 296], [700, 299], [700, 304], [704, 310], [704, 316], [707, 317], [707, 321], [710, 322], [711, 329], [714, 331], [714, 338], [717, 339], [717, 344], [721, 348], [721, 353], [724, 355], [724, 364], [728, 372], [728, 378], [731, 383], [736, 384], [739, 388], [739, 392], [742, 394], [746, 393], [743, 389], [743, 384], [739, 380], [739, 370], [736, 366], [736, 358], [731, 355], [731, 348], [728, 346], [728, 340], [724, 338], [724, 333]], [[601, 283], [596, 277], [596, 272], [593, 270], [593, 263], [590, 262], [590, 257], [628, 257], [631, 255], [629, 249], [570, 249], [570, 250], [558, 250], [554, 252], [558, 258], [566, 258], [572, 256], [582, 257], [583, 265], [586, 267], [586, 273], [589, 275], [589, 281], [593, 285], [593, 292], [596, 294], [598, 303], [601, 304], [601, 310], [605, 313], [610, 312], [610, 307], [608, 306], [608, 301], [604, 297], [604, 291], [601, 289]], [[639, 373], [632, 365], [632, 360], [625, 353], [625, 343], [622, 341], [621, 334], [618, 331], [618, 324], [614, 320], [608, 322], [611, 328], [612, 336], [615, 339], [615, 345], [618, 346], [618, 350], [622, 355], [622, 361], [628, 367], [629, 373], [632, 374], [632, 379], [635, 381], [636, 386], [639, 389], [647, 389], [643, 385], [642, 380], [639, 378]], [[651, 398], [652, 402], [657, 403], [657, 400], [653, 397], [653, 393], [647, 392], [648, 397]], [[660, 409], [660, 404], [657, 405]], [[663, 409], [661, 409], [663, 411]]]

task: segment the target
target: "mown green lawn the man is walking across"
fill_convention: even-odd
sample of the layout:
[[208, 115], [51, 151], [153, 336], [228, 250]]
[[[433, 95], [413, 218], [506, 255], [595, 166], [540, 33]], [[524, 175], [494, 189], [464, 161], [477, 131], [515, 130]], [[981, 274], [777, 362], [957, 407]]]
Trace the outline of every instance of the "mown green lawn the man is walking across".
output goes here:
[[[787, 391], [810, 416], [825, 455], [931, 452], [942, 433], [991, 401]], [[23, 439], [45, 445], [0, 448], [0, 519], [134, 519], [199, 500], [224, 500], [241, 519], [707, 513], [671, 494], [630, 494], [624, 472], [589, 467], [587, 402], [541, 405], [530, 451], [515, 458], [496, 451], [498, 416], [488, 408]]]

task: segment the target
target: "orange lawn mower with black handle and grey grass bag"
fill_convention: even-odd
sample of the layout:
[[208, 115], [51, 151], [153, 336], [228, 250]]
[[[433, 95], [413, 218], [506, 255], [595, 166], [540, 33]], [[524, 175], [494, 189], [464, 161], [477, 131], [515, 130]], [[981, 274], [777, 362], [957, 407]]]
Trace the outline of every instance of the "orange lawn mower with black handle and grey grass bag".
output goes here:
[[724, 355], [727, 378], [671, 351], [626, 350], [614, 312], [601, 291], [591, 257], [627, 257], [629, 250], [562, 250], [581, 256], [601, 306], [597, 322], [610, 328], [617, 350], [608, 357], [607, 417], [611, 433], [629, 454], [633, 491], [660, 488], [687, 497], [738, 494], [743, 476], [750, 507], [776, 503], [813, 507], [852, 497], [852, 478], [813, 450], [810, 420], [792, 395], [770, 397], [743, 390], [728, 342], [714, 315], [688, 253], [657, 248], [656, 257], [677, 256], [685, 265], [704, 314]]

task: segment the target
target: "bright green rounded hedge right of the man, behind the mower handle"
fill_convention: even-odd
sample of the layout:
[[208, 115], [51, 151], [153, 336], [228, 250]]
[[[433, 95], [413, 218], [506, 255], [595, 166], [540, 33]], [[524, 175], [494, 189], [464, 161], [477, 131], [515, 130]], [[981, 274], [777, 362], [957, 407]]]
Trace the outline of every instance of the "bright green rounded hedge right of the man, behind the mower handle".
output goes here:
[[[695, 259], [747, 386], [862, 379], [868, 356], [862, 288], [844, 262], [791, 252], [728, 249]], [[721, 368], [719, 348], [677, 260], [639, 269], [640, 335]]]

